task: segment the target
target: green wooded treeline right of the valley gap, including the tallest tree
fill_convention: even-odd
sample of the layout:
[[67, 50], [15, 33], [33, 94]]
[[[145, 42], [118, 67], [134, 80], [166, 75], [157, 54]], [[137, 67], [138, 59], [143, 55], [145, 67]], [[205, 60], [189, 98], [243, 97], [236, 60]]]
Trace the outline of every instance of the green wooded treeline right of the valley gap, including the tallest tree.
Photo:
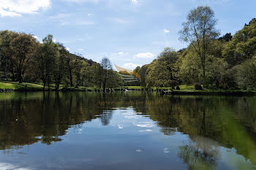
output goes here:
[[219, 37], [210, 7], [192, 9], [179, 32], [189, 46], [165, 48], [157, 59], [135, 69], [142, 86], [196, 88], [256, 88], [256, 19], [231, 36]]

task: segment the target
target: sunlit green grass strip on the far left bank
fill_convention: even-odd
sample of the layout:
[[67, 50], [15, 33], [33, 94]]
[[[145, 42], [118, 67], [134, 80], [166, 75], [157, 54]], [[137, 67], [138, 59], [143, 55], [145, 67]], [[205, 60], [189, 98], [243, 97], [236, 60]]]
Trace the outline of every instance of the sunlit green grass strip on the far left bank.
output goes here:
[[0, 82], [0, 89], [7, 90], [42, 90], [42, 85], [23, 82]]

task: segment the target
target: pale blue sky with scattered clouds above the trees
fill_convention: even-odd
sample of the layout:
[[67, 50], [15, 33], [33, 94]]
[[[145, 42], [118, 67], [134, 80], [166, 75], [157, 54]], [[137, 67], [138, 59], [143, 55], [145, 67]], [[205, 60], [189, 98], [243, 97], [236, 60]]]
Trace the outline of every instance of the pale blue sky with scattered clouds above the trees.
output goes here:
[[178, 31], [198, 5], [214, 9], [222, 34], [256, 17], [255, 0], [0, 0], [0, 29], [53, 34], [71, 53], [135, 69], [164, 47], [187, 47]]

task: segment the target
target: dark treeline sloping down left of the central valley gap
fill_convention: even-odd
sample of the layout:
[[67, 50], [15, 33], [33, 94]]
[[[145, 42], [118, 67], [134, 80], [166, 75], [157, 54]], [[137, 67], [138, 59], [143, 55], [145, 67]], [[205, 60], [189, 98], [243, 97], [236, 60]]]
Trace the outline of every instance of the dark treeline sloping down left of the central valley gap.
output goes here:
[[108, 58], [101, 63], [69, 53], [55, 42], [52, 35], [42, 43], [31, 34], [0, 31], [0, 80], [34, 82], [50, 89], [64, 87], [114, 88], [121, 85], [121, 77], [114, 72]]

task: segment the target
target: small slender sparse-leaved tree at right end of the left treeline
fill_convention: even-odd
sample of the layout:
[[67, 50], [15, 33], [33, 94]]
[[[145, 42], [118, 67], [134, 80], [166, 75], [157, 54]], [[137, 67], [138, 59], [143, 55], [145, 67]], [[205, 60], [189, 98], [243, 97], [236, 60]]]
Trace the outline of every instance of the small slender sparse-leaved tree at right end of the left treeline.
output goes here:
[[108, 58], [102, 58], [100, 65], [102, 66], [103, 91], [105, 91], [108, 77], [110, 77], [110, 70], [112, 70], [112, 64]]

